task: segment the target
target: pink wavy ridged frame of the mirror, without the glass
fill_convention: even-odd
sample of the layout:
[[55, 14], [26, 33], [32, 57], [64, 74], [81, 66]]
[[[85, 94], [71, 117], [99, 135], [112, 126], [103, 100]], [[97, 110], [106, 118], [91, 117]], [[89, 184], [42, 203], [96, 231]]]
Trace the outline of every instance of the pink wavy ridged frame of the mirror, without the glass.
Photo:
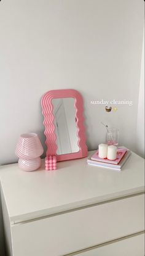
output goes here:
[[[77, 136], [78, 136], [78, 146], [79, 152], [57, 155], [57, 136], [55, 134], [55, 125], [53, 123], [53, 104], [52, 99], [58, 98], [68, 98], [73, 97], [75, 99], [74, 107], [76, 107], [76, 125], [77, 125]], [[81, 94], [74, 89], [59, 89], [48, 91], [42, 96], [41, 100], [42, 114], [44, 115], [44, 134], [46, 136], [45, 144], [47, 146], [46, 157], [49, 155], [56, 155], [57, 161], [64, 161], [69, 159], [78, 159], [82, 157], [87, 157], [88, 150], [85, 144], [85, 126], [84, 126], [84, 116], [83, 116], [83, 99]]]

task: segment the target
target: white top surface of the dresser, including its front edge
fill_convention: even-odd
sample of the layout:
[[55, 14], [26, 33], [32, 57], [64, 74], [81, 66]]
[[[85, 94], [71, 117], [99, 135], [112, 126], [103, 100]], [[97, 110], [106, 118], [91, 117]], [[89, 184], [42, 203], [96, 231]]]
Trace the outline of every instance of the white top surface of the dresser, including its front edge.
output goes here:
[[[89, 152], [89, 155], [92, 155]], [[0, 168], [10, 221], [21, 222], [144, 191], [144, 159], [131, 153], [122, 171], [87, 165], [87, 159], [58, 163], [58, 170]]]

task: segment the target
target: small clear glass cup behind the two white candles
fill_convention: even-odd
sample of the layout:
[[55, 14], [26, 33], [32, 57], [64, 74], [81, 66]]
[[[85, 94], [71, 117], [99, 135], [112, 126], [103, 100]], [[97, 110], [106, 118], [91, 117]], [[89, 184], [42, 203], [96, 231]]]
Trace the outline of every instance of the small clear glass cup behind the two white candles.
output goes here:
[[106, 133], [106, 144], [108, 146], [114, 145], [118, 147], [119, 145], [119, 129], [117, 128], [108, 128]]

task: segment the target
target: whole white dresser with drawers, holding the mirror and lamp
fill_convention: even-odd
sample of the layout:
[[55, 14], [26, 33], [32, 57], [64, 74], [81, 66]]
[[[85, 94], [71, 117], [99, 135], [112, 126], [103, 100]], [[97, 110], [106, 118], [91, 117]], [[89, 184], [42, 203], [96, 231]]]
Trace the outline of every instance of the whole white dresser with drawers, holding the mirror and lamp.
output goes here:
[[120, 172], [86, 161], [1, 167], [7, 255], [144, 256], [144, 159], [132, 153]]

